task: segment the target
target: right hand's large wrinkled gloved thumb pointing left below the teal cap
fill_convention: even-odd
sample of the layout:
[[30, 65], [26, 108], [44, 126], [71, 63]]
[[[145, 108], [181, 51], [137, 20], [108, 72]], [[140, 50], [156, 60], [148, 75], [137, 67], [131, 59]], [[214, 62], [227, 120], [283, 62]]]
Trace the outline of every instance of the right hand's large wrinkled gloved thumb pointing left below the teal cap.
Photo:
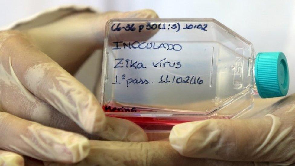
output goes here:
[[[212, 119], [173, 127], [172, 147], [181, 155], [225, 161], [295, 163], [295, 94], [262, 110], [259, 119]], [[259, 163], [256, 163], [259, 164]]]

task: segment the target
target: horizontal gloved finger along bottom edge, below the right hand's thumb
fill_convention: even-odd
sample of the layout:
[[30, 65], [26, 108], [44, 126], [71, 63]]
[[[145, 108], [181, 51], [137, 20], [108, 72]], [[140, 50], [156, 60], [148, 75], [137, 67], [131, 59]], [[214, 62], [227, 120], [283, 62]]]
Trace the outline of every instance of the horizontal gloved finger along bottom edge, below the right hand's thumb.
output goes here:
[[[69, 165], [169, 165], [169, 166], [251, 166], [253, 162], [230, 162], [212, 159], [188, 158], [180, 155], [168, 141], [152, 142], [117, 142], [117, 141], [91, 141], [89, 155], [76, 164]], [[44, 162], [47, 166], [62, 165]], [[265, 165], [265, 164], [264, 164]]]

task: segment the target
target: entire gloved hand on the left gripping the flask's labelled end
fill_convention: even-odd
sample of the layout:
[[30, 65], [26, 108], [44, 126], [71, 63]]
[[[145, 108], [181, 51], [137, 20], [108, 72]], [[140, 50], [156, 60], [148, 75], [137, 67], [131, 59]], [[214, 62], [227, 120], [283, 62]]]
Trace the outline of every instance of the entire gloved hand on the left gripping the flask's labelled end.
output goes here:
[[78, 162], [87, 156], [89, 141], [73, 132], [146, 141], [134, 123], [105, 117], [95, 96], [71, 74], [102, 48], [107, 20], [155, 17], [151, 10], [78, 13], [36, 28], [0, 31], [0, 149], [5, 150], [0, 151], [0, 165], [21, 165], [16, 153]]

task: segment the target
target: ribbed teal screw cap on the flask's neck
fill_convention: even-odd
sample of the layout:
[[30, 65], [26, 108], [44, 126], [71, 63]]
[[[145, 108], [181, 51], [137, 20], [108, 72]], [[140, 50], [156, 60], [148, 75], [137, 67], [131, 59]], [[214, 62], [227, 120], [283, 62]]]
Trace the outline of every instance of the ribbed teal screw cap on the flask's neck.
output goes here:
[[284, 53], [258, 53], [255, 59], [255, 81], [262, 98], [286, 96], [289, 90], [289, 70]]

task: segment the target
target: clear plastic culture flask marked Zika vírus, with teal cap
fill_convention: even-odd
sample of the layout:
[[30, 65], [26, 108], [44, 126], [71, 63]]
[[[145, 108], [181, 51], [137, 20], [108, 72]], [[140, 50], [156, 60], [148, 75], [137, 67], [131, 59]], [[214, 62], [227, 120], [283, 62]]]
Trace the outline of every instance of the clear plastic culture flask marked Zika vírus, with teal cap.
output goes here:
[[254, 95], [288, 92], [285, 55], [256, 56], [215, 19], [112, 19], [104, 42], [101, 105], [147, 132], [236, 118], [253, 107]]

